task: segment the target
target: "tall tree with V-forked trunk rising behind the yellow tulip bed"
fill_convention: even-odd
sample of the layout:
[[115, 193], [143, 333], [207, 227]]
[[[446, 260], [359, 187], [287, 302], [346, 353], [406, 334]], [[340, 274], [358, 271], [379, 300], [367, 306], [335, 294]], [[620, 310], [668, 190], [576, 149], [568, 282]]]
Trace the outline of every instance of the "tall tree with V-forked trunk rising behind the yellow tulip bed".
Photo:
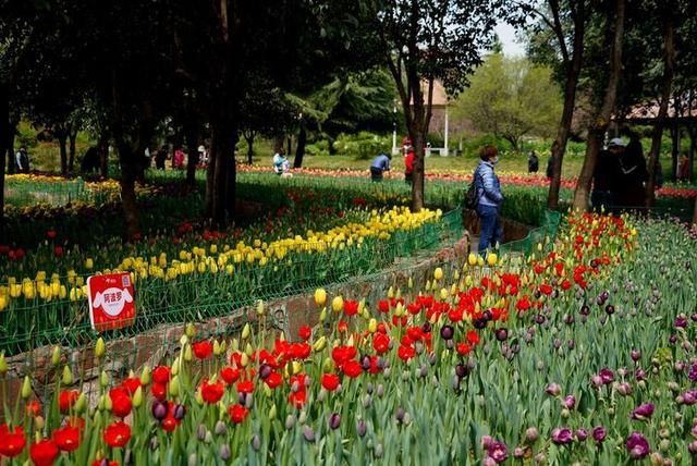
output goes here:
[[451, 96], [467, 84], [490, 46], [501, 1], [375, 0], [370, 35], [396, 84], [406, 127], [414, 144], [412, 208], [424, 207], [424, 147], [432, 115], [433, 83], [442, 82]]

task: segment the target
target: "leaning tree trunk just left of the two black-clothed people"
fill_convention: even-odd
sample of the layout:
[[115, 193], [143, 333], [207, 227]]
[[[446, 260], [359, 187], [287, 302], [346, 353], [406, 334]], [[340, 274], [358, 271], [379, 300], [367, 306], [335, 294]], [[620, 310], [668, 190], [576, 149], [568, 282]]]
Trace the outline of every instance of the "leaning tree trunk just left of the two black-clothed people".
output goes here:
[[624, 35], [624, 13], [626, 0], [615, 0], [614, 34], [612, 40], [612, 61], [610, 63], [610, 76], [606, 87], [606, 93], [597, 118], [594, 118], [588, 128], [588, 144], [586, 145], [586, 157], [584, 159], [576, 192], [574, 193], [574, 208], [583, 211], [588, 210], [590, 197], [590, 184], [592, 172], [596, 168], [598, 154], [602, 137], [610, 123], [610, 115], [617, 96], [617, 84], [622, 72], [622, 38]]

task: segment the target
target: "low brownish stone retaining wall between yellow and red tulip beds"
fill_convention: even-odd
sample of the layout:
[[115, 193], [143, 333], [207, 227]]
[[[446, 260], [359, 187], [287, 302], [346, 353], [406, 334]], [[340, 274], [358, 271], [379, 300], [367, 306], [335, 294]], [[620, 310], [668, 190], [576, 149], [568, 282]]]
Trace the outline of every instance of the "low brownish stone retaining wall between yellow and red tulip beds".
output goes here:
[[[438, 252], [423, 252], [416, 257], [398, 258], [395, 263], [379, 273], [353, 278], [350, 282], [326, 286], [328, 301], [337, 295], [345, 298], [365, 298], [369, 306], [377, 306], [378, 299], [384, 298], [390, 286], [406, 289], [409, 277], [414, 286], [419, 287], [432, 278], [432, 270], [448, 263], [462, 263], [469, 253], [467, 233], [450, 247]], [[319, 312], [314, 303], [314, 290], [290, 297], [281, 297], [265, 302], [267, 329], [283, 331], [288, 340], [296, 340], [303, 324], [314, 326], [318, 322]], [[224, 317], [208, 319], [196, 323], [199, 335], [232, 338], [237, 335], [245, 322], [258, 323], [256, 306], [230, 309]], [[184, 323], [163, 324], [156, 329], [139, 333], [132, 338], [107, 342], [106, 363], [97, 366], [91, 345], [81, 350], [64, 347], [61, 350], [61, 363], [51, 364], [53, 346], [38, 347], [32, 352], [8, 358], [9, 371], [5, 376], [11, 405], [26, 375], [32, 379], [33, 390], [39, 400], [46, 401], [54, 387], [56, 372], [62, 372], [70, 365], [75, 380], [82, 381], [84, 392], [98, 392], [97, 380], [100, 370], [105, 370], [114, 380], [127, 377], [129, 370], [138, 373], [144, 365], [155, 367], [163, 360], [171, 359], [180, 350], [179, 341], [184, 334]], [[273, 332], [273, 334], [277, 334]], [[0, 414], [2, 407], [0, 406]]]

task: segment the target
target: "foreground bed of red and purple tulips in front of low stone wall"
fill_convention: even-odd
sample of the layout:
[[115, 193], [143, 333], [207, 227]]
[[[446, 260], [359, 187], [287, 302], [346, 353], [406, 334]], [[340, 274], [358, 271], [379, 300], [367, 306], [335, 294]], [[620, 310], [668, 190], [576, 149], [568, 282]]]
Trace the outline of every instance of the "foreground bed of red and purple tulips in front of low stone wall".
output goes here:
[[[262, 304], [234, 338], [192, 326], [162, 365], [103, 377], [94, 404], [57, 354], [51, 400], [39, 404], [29, 379], [10, 395], [0, 453], [44, 464], [689, 464], [696, 249], [680, 225], [574, 214], [529, 260], [473, 255], [372, 303], [317, 290], [321, 324], [293, 341], [265, 323]], [[107, 364], [101, 342], [94, 354]]]

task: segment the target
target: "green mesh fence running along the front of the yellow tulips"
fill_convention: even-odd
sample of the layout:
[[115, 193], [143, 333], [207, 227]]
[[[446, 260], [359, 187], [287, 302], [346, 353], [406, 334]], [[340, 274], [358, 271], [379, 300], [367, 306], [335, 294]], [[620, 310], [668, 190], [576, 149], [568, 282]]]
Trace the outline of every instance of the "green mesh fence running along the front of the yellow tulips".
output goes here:
[[[162, 323], [197, 321], [221, 317], [257, 299], [295, 295], [316, 286], [346, 282], [354, 277], [376, 273], [399, 257], [418, 250], [432, 249], [462, 236], [461, 211], [452, 210], [438, 222], [426, 222], [412, 230], [402, 230], [388, 240], [366, 238], [362, 244], [323, 252], [297, 252], [284, 255], [273, 250], [266, 266], [234, 263], [232, 273], [221, 265], [217, 273], [185, 274], [172, 280], [142, 279], [135, 283], [137, 318], [132, 327], [109, 331], [105, 339], [137, 334]], [[201, 266], [203, 263], [203, 266]], [[198, 262], [206, 271], [212, 265]], [[215, 267], [218, 267], [216, 265]], [[75, 275], [61, 282], [86, 280]], [[36, 282], [34, 286], [38, 285]], [[74, 293], [71, 290], [69, 294]], [[37, 290], [38, 293], [38, 290]], [[90, 328], [86, 298], [66, 296], [46, 302], [38, 294], [24, 299], [24, 305], [0, 312], [0, 351], [7, 355], [26, 352], [42, 345], [81, 347], [95, 340]]]

